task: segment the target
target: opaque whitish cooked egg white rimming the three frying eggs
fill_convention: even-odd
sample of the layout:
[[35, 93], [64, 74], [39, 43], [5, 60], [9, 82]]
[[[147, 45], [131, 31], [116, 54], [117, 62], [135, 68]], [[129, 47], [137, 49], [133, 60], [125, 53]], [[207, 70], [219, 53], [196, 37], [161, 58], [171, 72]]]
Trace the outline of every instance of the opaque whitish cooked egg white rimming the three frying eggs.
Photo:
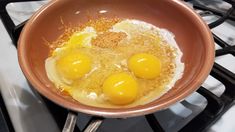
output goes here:
[[[138, 101], [135, 101], [132, 104], [128, 105], [128, 107], [136, 106], [136, 105], [143, 105], [143, 104], [152, 102], [153, 100], [161, 97], [163, 94], [168, 92], [172, 87], [174, 87], [177, 80], [182, 78], [183, 72], [184, 72], [184, 63], [181, 61], [181, 58], [183, 56], [183, 53], [175, 41], [174, 34], [171, 33], [170, 31], [168, 31], [167, 29], [161, 29], [161, 28], [158, 28], [152, 24], [149, 24], [149, 23], [146, 23], [146, 22], [140, 21], [140, 20], [126, 19], [126, 20], [123, 20], [123, 21], [113, 25], [113, 27], [109, 31], [111, 31], [111, 32], [124, 32], [127, 35], [127, 38], [126, 38], [127, 40], [131, 39], [132, 36], [134, 36], [134, 35], [144, 33], [144, 32], [151, 32], [151, 33], [156, 34], [158, 36], [160, 35], [161, 40], [166, 41], [167, 44], [169, 44], [170, 46], [172, 46], [176, 49], [176, 58], [174, 60], [176, 67], [175, 67], [174, 74], [173, 74], [171, 81], [167, 85], [165, 85], [165, 90], [162, 93], [160, 93], [160, 95], [157, 95], [157, 96], [153, 90], [147, 96], [144, 96], [144, 97], [138, 99]], [[84, 44], [84, 46], [86, 48], [92, 47], [91, 41], [92, 41], [92, 39], [94, 39], [97, 36], [95, 29], [93, 27], [86, 27], [80, 33], [91, 33], [92, 34], [89, 38], [87, 38], [87, 41]], [[57, 48], [55, 50], [56, 54], [59, 55], [60, 53], [63, 53], [64, 49], [67, 47], [65, 46], [65, 47]], [[51, 56], [46, 59], [45, 69], [46, 69], [47, 76], [48, 76], [49, 80], [51, 80], [55, 84], [56, 87], [69, 86], [71, 81], [66, 80], [63, 77], [60, 77], [58, 75], [58, 72], [56, 71], [56, 60], [57, 59], [58, 59], [57, 56]], [[121, 68], [122, 65], [127, 66], [127, 60], [126, 59], [121, 60], [120, 63], [116, 63], [114, 65], [116, 65], [119, 68]], [[94, 69], [94, 70], [96, 70], [96, 69]], [[128, 69], [125, 69], [125, 70], [128, 70]], [[87, 76], [89, 76], [89, 74], [87, 74]], [[103, 102], [104, 100], [102, 100], [102, 98], [104, 98], [104, 97], [98, 98], [95, 93], [86, 93], [85, 91], [82, 91], [82, 92], [83, 93], [80, 93], [79, 91], [76, 92], [76, 90], [75, 90], [73, 93], [71, 93], [71, 96], [75, 100], [78, 100], [82, 103], [90, 102], [89, 104], [94, 105], [94, 106], [102, 106], [102, 107], [108, 106], [108, 105], [106, 105], [106, 106], [105, 105], [104, 106], [97, 105], [96, 104], [97, 102], [96, 103], [92, 102], [92, 100], [95, 100], [95, 99], [98, 99], [98, 102]], [[90, 100], [86, 100], [86, 98], [89, 98]], [[110, 107], [110, 105], [108, 107]]]

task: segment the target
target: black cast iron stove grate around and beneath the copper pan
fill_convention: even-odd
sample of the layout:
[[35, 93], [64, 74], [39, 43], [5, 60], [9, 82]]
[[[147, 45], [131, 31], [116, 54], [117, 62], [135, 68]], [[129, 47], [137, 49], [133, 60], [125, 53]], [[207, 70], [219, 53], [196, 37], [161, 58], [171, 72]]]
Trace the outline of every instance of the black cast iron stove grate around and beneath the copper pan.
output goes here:
[[[17, 47], [17, 41], [19, 38], [19, 34], [25, 24], [25, 22], [15, 25], [11, 20], [9, 14], [6, 11], [6, 5], [11, 2], [22, 2], [22, 1], [40, 1], [40, 0], [0, 0], [0, 17], [1, 20], [10, 35], [13, 44]], [[191, 0], [185, 0], [191, 1]], [[233, 0], [224, 0], [232, 5], [232, 7], [226, 11], [221, 12], [216, 9], [212, 9], [200, 4], [194, 4], [194, 9], [199, 9], [202, 11], [209, 12], [209, 14], [220, 16], [218, 20], [209, 24], [210, 28], [214, 28], [219, 26], [226, 20], [235, 21], [235, 16], [232, 15], [235, 10], [235, 2]], [[235, 46], [231, 46], [225, 41], [223, 41], [219, 36], [213, 34], [215, 42], [222, 47], [222, 49], [216, 50], [216, 56], [232, 54], [235, 56]], [[233, 104], [235, 100], [235, 74], [229, 71], [228, 69], [224, 68], [223, 66], [214, 63], [213, 69], [210, 73], [211, 76], [222, 82], [225, 86], [224, 93], [218, 97], [209, 90], [204, 87], [200, 87], [197, 92], [204, 96], [208, 102], [206, 108], [196, 117], [194, 117], [189, 123], [187, 123], [183, 128], [179, 131], [181, 132], [200, 132], [207, 130], [213, 123], [215, 123]], [[69, 113], [68, 110], [52, 103], [51, 101], [44, 98], [45, 103], [47, 104], [50, 112], [52, 113], [53, 117], [55, 118], [58, 126], [60, 129], [63, 129], [64, 123], [66, 121], [67, 114]], [[55, 109], [56, 108], [56, 112]], [[60, 115], [59, 118], [57, 115]], [[146, 120], [156, 132], [164, 132], [164, 129], [161, 127], [160, 123], [158, 122], [157, 118], [154, 114], [146, 115]], [[93, 117], [87, 124], [85, 128], [91, 126], [97, 117]], [[98, 118], [98, 120], [100, 120]], [[85, 130], [85, 129], [84, 129]], [[82, 130], [82, 131], [84, 131]], [[81, 131], [77, 126], [75, 127], [74, 131]]]

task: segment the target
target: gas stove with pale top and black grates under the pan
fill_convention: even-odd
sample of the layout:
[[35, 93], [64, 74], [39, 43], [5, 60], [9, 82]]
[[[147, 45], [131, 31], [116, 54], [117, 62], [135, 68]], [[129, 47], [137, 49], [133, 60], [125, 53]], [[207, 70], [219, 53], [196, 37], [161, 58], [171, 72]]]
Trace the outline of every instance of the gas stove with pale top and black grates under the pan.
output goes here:
[[[0, 131], [57, 132], [69, 110], [32, 90], [17, 60], [17, 40], [27, 19], [48, 1], [0, 0]], [[235, 126], [235, 1], [185, 0], [208, 23], [216, 45], [213, 69], [203, 85], [182, 102], [150, 115], [102, 119], [76, 113], [74, 131], [233, 132]], [[68, 121], [68, 119], [67, 119]]]

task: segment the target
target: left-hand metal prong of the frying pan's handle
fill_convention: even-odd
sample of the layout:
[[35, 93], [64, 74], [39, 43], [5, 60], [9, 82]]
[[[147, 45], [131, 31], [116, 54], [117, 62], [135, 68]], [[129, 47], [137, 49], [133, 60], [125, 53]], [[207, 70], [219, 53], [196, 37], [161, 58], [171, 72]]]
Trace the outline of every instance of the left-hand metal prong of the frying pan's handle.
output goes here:
[[77, 122], [77, 113], [69, 111], [62, 132], [73, 132]]

